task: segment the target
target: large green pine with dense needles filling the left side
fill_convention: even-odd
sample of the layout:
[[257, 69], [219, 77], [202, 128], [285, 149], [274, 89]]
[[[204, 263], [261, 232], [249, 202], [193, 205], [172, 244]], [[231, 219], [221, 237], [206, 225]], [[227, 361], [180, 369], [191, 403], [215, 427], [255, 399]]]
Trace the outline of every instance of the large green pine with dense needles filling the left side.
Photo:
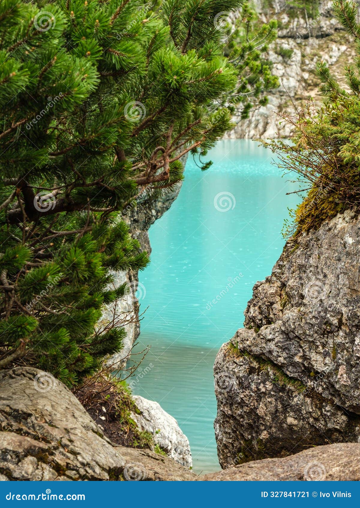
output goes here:
[[242, 3], [0, 4], [0, 368], [73, 386], [120, 350], [122, 328], [96, 330], [126, 291], [111, 272], [148, 257], [119, 212], [231, 127], [238, 70], [214, 18]]

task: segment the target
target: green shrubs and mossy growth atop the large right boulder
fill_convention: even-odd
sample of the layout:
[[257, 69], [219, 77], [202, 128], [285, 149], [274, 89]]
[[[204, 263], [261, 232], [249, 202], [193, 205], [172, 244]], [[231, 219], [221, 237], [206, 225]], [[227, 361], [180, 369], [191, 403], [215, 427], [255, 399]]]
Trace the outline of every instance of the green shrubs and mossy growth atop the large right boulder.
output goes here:
[[305, 197], [294, 212], [295, 235], [318, 228], [346, 209], [360, 210], [360, 25], [357, 4], [334, 3], [337, 19], [354, 37], [358, 56], [345, 68], [350, 91], [331, 75], [325, 61], [317, 63], [322, 107], [310, 101], [297, 115], [281, 114], [294, 134], [291, 143], [264, 142], [279, 157], [279, 167], [298, 173]]

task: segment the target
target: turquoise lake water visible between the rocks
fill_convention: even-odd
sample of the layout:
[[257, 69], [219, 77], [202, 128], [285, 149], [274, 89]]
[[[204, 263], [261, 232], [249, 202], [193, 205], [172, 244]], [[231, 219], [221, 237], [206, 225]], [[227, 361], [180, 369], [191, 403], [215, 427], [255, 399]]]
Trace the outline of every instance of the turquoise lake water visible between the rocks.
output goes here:
[[133, 393], [158, 401], [188, 436], [197, 473], [219, 470], [212, 366], [242, 327], [253, 285], [270, 275], [284, 246], [297, 184], [272, 165], [270, 150], [223, 140], [202, 172], [189, 157], [176, 201], [150, 229], [151, 263], [140, 273], [141, 334], [151, 345]]

